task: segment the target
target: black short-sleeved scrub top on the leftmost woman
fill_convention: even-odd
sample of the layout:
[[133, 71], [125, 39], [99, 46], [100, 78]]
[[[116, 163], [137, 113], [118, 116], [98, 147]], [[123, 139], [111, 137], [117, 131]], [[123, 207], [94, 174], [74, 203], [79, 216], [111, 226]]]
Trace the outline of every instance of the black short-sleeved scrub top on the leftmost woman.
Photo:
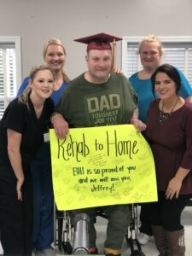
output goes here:
[[0, 177], [1, 166], [10, 166], [7, 149], [8, 128], [22, 134], [20, 154], [24, 172], [25, 166], [29, 165], [38, 148], [44, 143], [44, 132], [49, 131], [49, 118], [54, 111], [54, 102], [50, 98], [45, 100], [43, 112], [39, 119], [36, 116], [30, 96], [28, 96], [28, 103], [29, 108], [26, 104], [18, 102], [18, 98], [16, 98], [9, 103], [0, 121]]

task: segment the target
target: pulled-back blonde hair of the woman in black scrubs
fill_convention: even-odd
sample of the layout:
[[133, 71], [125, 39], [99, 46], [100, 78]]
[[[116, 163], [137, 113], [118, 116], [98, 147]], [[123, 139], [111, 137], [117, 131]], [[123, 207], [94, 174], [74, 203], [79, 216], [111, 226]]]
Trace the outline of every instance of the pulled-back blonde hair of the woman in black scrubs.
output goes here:
[[[39, 66], [32, 67], [32, 69], [29, 73], [29, 80], [33, 81], [34, 78], [36, 77], [36, 74], [42, 70], [49, 70], [50, 73], [52, 73], [53, 78], [54, 78], [53, 70], [50, 67], [48, 67], [46, 65], [39, 65]], [[23, 90], [23, 93], [21, 94], [21, 96], [18, 97], [18, 102], [26, 104], [28, 109], [29, 109], [28, 96], [31, 93], [31, 91], [32, 91], [32, 88], [29, 85], [27, 85], [26, 89]]]

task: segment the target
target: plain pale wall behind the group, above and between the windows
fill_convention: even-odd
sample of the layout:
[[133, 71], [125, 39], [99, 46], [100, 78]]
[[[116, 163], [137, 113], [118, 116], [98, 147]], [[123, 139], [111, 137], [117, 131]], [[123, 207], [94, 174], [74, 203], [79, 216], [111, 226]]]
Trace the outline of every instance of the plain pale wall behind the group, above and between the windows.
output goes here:
[[22, 77], [43, 62], [45, 40], [56, 37], [66, 46], [66, 70], [73, 79], [86, 69], [85, 44], [73, 39], [97, 32], [189, 36], [192, 0], [0, 0], [0, 36], [20, 36]]

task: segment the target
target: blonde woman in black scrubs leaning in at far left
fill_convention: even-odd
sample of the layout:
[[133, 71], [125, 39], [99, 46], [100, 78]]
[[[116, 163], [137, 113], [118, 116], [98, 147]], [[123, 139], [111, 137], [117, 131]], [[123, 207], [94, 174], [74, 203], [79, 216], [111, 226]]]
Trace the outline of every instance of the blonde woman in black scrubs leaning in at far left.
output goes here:
[[4, 255], [32, 255], [30, 162], [49, 132], [54, 89], [49, 67], [33, 67], [23, 94], [0, 121], [0, 233]]

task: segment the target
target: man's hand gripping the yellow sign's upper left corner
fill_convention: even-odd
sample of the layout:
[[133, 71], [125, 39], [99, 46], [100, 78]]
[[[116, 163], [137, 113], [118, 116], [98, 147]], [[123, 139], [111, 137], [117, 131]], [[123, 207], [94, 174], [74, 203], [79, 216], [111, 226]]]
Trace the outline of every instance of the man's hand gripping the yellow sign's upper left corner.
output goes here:
[[52, 117], [52, 124], [58, 138], [63, 139], [66, 137], [68, 132], [68, 123], [60, 113], [55, 113], [55, 115]]

